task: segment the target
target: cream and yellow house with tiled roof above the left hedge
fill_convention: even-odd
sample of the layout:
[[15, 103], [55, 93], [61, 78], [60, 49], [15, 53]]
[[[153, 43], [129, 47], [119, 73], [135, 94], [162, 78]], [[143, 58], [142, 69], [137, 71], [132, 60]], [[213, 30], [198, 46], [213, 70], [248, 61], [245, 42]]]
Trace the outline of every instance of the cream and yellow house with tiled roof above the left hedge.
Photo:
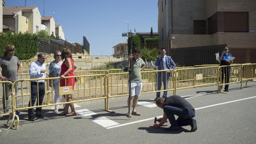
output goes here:
[[37, 33], [41, 30], [38, 7], [3, 7], [3, 25], [19, 32]]

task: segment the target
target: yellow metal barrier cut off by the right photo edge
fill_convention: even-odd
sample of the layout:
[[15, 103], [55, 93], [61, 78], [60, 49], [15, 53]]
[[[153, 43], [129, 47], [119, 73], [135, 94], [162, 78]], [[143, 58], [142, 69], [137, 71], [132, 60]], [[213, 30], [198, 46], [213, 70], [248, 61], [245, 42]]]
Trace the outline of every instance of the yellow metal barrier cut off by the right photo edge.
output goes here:
[[242, 89], [242, 82], [246, 81], [246, 86], [247, 86], [247, 82], [255, 81], [254, 79], [256, 79], [256, 63], [243, 64], [241, 67], [241, 89]]

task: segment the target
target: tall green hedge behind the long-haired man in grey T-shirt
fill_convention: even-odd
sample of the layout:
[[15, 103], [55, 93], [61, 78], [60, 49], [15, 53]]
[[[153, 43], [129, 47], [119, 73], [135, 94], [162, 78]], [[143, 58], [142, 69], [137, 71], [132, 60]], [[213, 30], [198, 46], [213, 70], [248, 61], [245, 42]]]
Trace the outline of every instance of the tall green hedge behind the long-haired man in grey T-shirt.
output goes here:
[[14, 45], [14, 55], [19, 60], [30, 59], [38, 52], [39, 37], [36, 34], [30, 33], [14, 33], [11, 32], [0, 35], [0, 56], [3, 56], [3, 52], [7, 45]]

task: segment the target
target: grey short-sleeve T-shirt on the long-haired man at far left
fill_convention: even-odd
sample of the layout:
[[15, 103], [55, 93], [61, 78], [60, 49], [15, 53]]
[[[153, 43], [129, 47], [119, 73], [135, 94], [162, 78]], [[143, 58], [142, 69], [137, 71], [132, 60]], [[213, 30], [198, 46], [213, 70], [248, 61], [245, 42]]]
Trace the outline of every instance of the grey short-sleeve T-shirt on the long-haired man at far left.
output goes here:
[[0, 58], [0, 66], [2, 68], [2, 75], [7, 77], [8, 81], [17, 80], [17, 71], [18, 71], [19, 59], [16, 56], [8, 58], [2, 56]]

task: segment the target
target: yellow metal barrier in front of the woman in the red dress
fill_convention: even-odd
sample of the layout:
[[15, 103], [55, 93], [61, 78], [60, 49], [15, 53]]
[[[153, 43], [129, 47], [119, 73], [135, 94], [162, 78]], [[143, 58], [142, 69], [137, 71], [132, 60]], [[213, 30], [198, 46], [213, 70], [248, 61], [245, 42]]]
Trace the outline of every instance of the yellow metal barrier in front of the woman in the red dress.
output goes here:
[[[39, 81], [45, 80], [45, 97], [43, 100], [43, 104], [39, 106], [39, 102], [37, 101], [37, 106], [28, 106], [29, 102], [31, 102], [31, 93], [29, 97], [24, 97], [23, 92], [21, 91], [22, 95], [22, 106], [16, 108], [16, 104], [14, 103], [14, 111], [17, 110], [24, 110], [24, 109], [33, 109], [33, 108], [40, 108], [45, 106], [54, 106], [59, 104], [69, 104], [75, 102], [84, 102], [96, 99], [104, 99], [105, 100], [105, 108], [104, 111], [109, 111], [108, 107], [108, 90], [107, 85], [108, 77], [105, 74], [95, 74], [95, 75], [86, 75], [86, 76], [74, 76], [74, 77], [65, 77], [68, 78], [79, 78], [79, 81], [75, 83], [74, 91], [72, 95], [72, 102], [61, 102], [61, 96], [59, 96], [59, 103], [54, 103], [54, 88], [49, 87], [49, 81], [56, 78], [45, 78], [45, 79], [22, 79], [17, 80], [13, 83], [12, 88], [14, 88], [15, 83], [20, 83], [22, 85], [24, 82], [29, 82], [29, 90], [31, 91], [31, 81]], [[38, 85], [37, 85], [38, 86]], [[39, 95], [37, 95], [37, 99]], [[30, 104], [31, 105], [31, 104]], [[18, 119], [17, 119], [18, 123]], [[16, 125], [17, 127], [18, 125]]]

